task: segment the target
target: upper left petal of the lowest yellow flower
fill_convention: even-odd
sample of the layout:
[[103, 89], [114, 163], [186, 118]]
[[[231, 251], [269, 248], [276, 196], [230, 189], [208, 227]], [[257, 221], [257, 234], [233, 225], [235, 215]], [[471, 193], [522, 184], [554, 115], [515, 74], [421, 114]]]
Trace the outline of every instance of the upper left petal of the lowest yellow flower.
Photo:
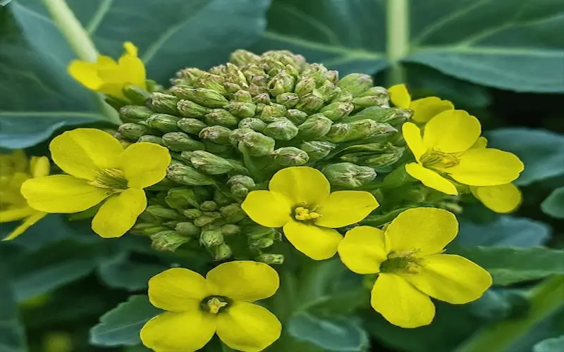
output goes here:
[[172, 312], [192, 308], [192, 301], [200, 303], [207, 296], [219, 294], [213, 284], [202, 275], [184, 268], [164, 270], [149, 279], [149, 301], [152, 305]]

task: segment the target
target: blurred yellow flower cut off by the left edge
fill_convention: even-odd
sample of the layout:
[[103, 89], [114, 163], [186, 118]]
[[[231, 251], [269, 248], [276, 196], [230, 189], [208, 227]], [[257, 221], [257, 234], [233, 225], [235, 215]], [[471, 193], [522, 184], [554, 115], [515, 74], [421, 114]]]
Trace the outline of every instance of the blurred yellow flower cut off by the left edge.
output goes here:
[[47, 215], [31, 208], [20, 191], [25, 180], [47, 175], [49, 159], [45, 156], [32, 156], [27, 163], [27, 157], [21, 150], [0, 155], [0, 222], [23, 220], [3, 241], [15, 239]]

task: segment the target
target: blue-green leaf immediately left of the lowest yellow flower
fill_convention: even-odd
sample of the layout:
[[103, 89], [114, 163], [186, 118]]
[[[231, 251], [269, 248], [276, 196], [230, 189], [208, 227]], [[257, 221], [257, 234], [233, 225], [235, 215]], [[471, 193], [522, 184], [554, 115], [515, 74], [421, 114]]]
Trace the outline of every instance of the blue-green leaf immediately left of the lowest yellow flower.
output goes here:
[[152, 306], [147, 296], [131, 296], [102, 315], [99, 324], [90, 330], [90, 343], [97, 346], [138, 345], [141, 343], [141, 327], [161, 312]]

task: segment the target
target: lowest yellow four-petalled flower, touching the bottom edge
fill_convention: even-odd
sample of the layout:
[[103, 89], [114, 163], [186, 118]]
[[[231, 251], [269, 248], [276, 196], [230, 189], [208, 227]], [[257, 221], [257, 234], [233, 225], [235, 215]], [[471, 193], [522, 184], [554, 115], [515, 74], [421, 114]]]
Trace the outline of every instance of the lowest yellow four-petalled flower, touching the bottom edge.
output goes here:
[[248, 260], [218, 265], [205, 279], [192, 270], [168, 269], [149, 280], [149, 301], [167, 311], [145, 324], [141, 340], [156, 352], [190, 352], [217, 333], [237, 351], [262, 351], [280, 337], [282, 326], [252, 302], [279, 286], [276, 270]]

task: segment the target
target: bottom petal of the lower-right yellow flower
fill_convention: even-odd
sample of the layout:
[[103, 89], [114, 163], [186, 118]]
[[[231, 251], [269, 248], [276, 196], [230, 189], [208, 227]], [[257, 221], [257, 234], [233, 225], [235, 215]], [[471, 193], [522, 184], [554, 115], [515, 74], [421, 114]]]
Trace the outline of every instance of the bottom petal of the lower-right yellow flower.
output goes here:
[[398, 327], [429, 325], [435, 316], [431, 298], [398, 275], [381, 273], [372, 288], [370, 303]]

